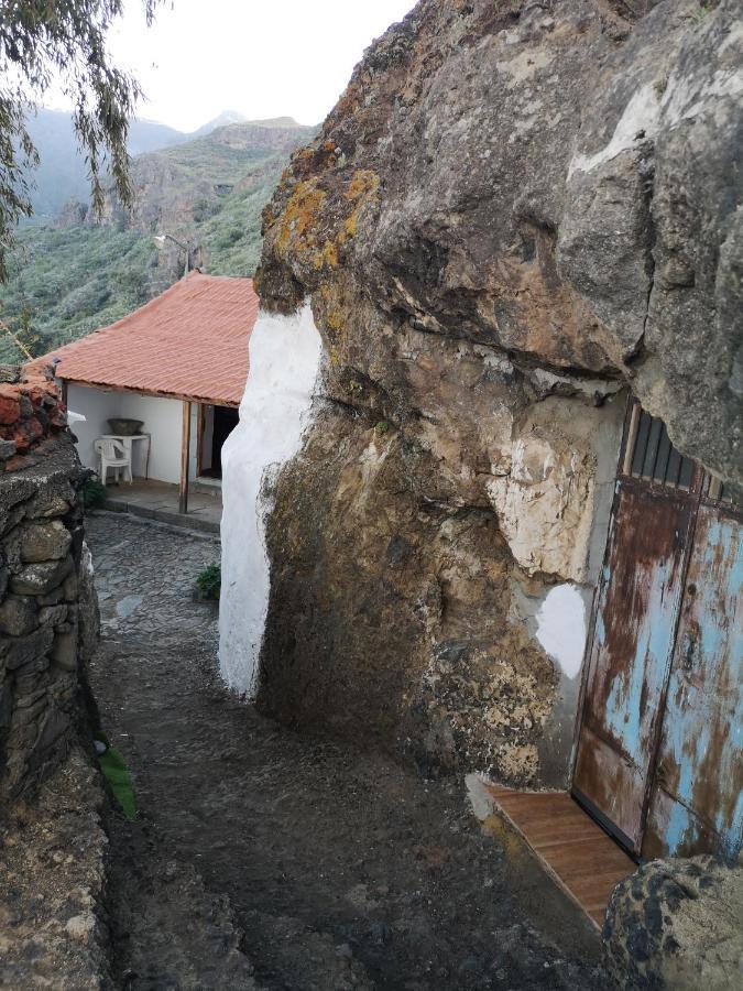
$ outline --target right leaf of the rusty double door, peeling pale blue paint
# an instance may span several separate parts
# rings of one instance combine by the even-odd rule
[[[699,508],[644,856],[741,849],[742,531],[732,515]]]

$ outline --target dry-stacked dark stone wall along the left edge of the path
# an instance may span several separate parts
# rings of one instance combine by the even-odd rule
[[[96,640],[80,467],[44,372],[0,377],[0,804],[65,756]]]

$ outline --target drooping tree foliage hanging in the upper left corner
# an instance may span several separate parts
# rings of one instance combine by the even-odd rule
[[[161,0],[143,0],[147,23]],[[131,204],[128,121],[141,96],[106,47],[123,0],[0,0],[0,281],[18,221],[31,214],[30,172],[39,156],[26,121],[54,85],[73,104],[95,210],[110,172],[119,198]]]

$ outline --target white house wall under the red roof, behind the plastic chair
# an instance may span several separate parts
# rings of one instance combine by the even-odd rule
[[[80,460],[86,467],[97,470],[94,440],[101,434],[110,434],[109,417],[121,416],[142,420],[142,429],[152,435],[150,478],[175,484],[181,481],[183,404],[179,400],[69,385],[67,405],[86,417],[85,423],[76,423],[73,428]],[[134,445],[134,475],[144,475],[143,448],[144,445]]]

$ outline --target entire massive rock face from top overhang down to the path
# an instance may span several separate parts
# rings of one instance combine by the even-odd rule
[[[740,9],[632,8],[422,0],[293,156],[258,281],[310,296],[326,399],[269,521],[269,711],[558,781],[547,605],[583,629],[625,390],[741,482]]]

